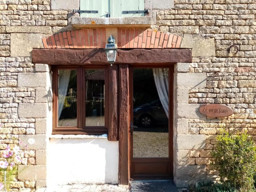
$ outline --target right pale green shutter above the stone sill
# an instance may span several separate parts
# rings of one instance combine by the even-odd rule
[[[110,17],[143,17],[144,13],[122,14],[122,11],[144,10],[144,0],[111,0],[113,3],[113,14]]]

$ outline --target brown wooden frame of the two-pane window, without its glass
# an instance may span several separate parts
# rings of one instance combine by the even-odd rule
[[[67,69],[77,70],[77,127],[58,126],[58,70]],[[86,78],[85,70],[87,69],[104,69],[105,71],[105,126],[85,126],[85,100],[86,100]],[[90,66],[53,66],[52,67],[52,103],[53,119],[52,134],[107,134],[108,133],[108,106],[109,106],[109,67],[107,65],[90,65]]]

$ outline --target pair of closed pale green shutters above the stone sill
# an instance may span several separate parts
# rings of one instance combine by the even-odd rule
[[[144,0],[80,0],[80,10],[97,10],[98,13],[81,13],[81,17],[141,17],[141,14],[122,14],[122,11],[144,10]]]

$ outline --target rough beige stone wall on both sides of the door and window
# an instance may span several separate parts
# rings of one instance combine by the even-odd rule
[[[255,1],[175,0],[174,8],[166,10],[156,10],[163,7],[155,0],[145,2],[152,9],[152,28],[180,35],[181,48],[192,48],[193,62],[175,66],[175,182],[183,187],[198,180],[219,180],[210,166],[210,151],[221,127],[232,134],[248,131],[256,140]],[[24,148],[20,170],[26,171],[12,183],[14,191],[46,185],[51,73],[47,65],[31,62],[31,50],[43,48],[42,37],[72,29],[72,11],[64,5],[58,8],[58,3],[0,0],[0,150],[18,144],[13,137],[23,148],[28,138],[36,140],[33,147]],[[72,9],[79,7],[77,3],[72,1]],[[237,47],[229,53],[230,45]],[[198,112],[201,103],[226,104],[234,114],[206,118]]]

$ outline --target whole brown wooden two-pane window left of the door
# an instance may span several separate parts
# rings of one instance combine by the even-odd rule
[[[107,133],[108,67],[54,67],[53,134]]]

